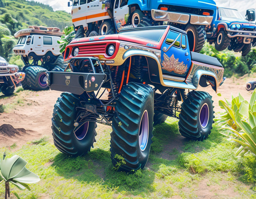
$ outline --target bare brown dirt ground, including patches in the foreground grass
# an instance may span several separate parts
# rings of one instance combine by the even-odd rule
[[[215,112],[221,112],[222,109],[218,106],[218,101],[224,98],[230,100],[231,94],[237,96],[240,92],[246,100],[249,100],[251,92],[247,92],[245,84],[254,79],[256,78],[253,76],[244,76],[239,79],[227,78],[218,89],[217,93],[221,93],[221,96],[218,96],[210,87],[200,88],[199,90],[209,92],[214,101]],[[54,104],[60,94],[61,92],[48,90],[39,92],[22,91],[11,97],[0,96],[0,105],[11,105],[7,113],[0,113],[0,148],[12,148],[11,146],[15,144],[13,150],[18,150],[26,143],[45,136],[49,137],[50,142],[53,143],[51,139],[51,118]],[[111,129],[111,127],[98,124],[96,131],[98,134],[102,134],[103,129]],[[184,139],[182,136],[178,136],[172,143],[177,142],[182,145]],[[170,146],[169,149],[172,150],[174,146]],[[162,153],[160,155],[167,160],[173,159],[169,154]],[[223,180],[225,181],[225,179]],[[203,187],[200,186],[200,189],[193,187],[198,198],[215,198],[216,196],[218,196],[216,198],[226,198],[228,195],[229,198],[232,198],[231,195],[235,198],[236,193],[234,193],[233,188],[223,191],[221,187],[223,184],[230,187],[231,184],[228,184],[228,182],[224,183],[223,181],[221,186],[209,186],[208,181],[209,179],[206,177],[203,179]],[[173,198],[180,197],[174,196]]]

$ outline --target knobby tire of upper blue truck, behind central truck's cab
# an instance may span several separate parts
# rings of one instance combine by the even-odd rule
[[[188,45],[190,51],[200,52],[204,47],[206,33],[202,25],[187,25],[185,31],[188,35]]]

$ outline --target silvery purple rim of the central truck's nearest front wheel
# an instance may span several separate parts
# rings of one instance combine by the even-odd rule
[[[140,150],[144,151],[148,145],[148,111],[145,110],[140,121],[139,132]]]

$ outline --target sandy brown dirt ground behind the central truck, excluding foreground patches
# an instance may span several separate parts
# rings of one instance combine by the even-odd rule
[[[230,100],[231,94],[237,96],[240,93],[246,100],[250,100],[251,92],[245,89],[245,84],[248,81],[256,79],[254,76],[244,76],[241,78],[227,78],[222,86],[219,87],[217,93],[210,87],[199,88],[199,90],[207,91],[212,95],[214,101],[215,112],[222,112],[218,106],[218,101],[224,98]],[[23,100],[22,104],[16,105],[8,113],[0,113],[0,126],[10,124],[15,129],[25,129],[23,133],[15,134],[14,136],[6,136],[0,131],[0,147],[10,147],[14,143],[17,148],[21,147],[28,141],[39,139],[44,136],[51,137],[51,118],[54,104],[61,92],[58,91],[22,91],[17,96],[4,97],[0,96],[0,105],[14,104],[18,100]],[[98,131],[103,125],[98,124]],[[104,126],[104,128],[111,128]]]

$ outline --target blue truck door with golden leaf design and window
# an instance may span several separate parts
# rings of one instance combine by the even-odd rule
[[[191,55],[187,35],[170,30],[161,46],[163,75],[187,76],[191,67]]]

